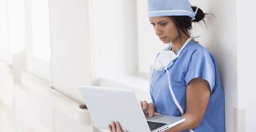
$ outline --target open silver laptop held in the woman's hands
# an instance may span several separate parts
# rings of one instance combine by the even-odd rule
[[[143,113],[136,93],[130,89],[79,85],[95,127],[109,129],[119,122],[122,131],[162,132],[183,121],[184,117]]]

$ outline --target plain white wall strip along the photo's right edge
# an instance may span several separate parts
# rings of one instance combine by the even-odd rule
[[[245,109],[246,132],[255,131],[256,116],[256,45],[255,45],[255,4],[256,1],[237,2],[237,68],[238,68],[238,109]]]

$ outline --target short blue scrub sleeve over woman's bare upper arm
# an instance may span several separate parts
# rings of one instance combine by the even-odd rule
[[[191,55],[189,69],[185,75],[186,84],[197,77],[207,80],[211,91],[213,90],[215,86],[214,57],[211,52],[202,47],[195,49]]]

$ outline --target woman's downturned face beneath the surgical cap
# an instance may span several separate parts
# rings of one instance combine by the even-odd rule
[[[149,17],[149,21],[153,25],[155,34],[164,44],[180,41],[178,29],[169,16]]]

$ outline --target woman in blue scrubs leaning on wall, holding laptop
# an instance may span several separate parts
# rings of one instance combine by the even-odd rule
[[[207,14],[191,7],[189,0],[148,0],[148,17],[155,34],[165,44],[152,64],[152,103],[141,101],[149,116],[163,114],[185,117],[166,132],[224,132],[224,92],[211,52],[190,37],[192,22]],[[109,125],[121,132],[119,123]]]

